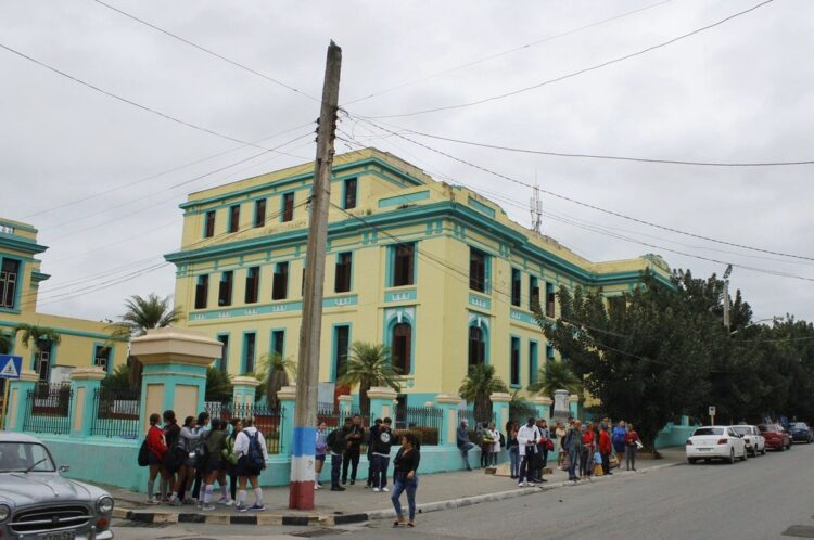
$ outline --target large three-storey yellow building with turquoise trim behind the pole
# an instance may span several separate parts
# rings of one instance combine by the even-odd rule
[[[263,355],[296,360],[314,165],[192,193],[177,267],[181,323],[224,343],[216,361],[255,372]],[[532,305],[555,318],[561,285],[635,286],[659,257],[592,262],[511,221],[493,202],[437,182],[392,154],[336,156],[326,254],[322,388],[335,383],[354,342],[384,344],[409,406],[457,394],[468,367],[494,364],[525,388],[557,357]],[[325,400],[325,395],[320,395]]]

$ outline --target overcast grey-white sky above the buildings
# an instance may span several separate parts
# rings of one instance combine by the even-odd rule
[[[308,95],[320,95],[330,39],[343,50],[340,102],[352,115],[383,117],[531,87],[662,43],[760,0],[110,3],[291,89],[92,0],[4,0],[0,43],[228,138],[275,136],[257,143],[266,149],[297,140],[280,149],[285,154],[246,160],[262,150],[139,110],[0,49],[0,216],[33,223],[50,247],[41,259],[52,278],[40,287],[39,311],[96,320],[123,313],[129,295],[173,293],[174,267],[158,265],[179,246],[178,204],[188,193],[314,159],[306,134],[319,106]],[[551,157],[400,131],[562,153],[811,160],[813,56],[814,2],[777,0],[534,90],[372,121],[614,213],[814,258],[812,165]],[[340,128],[343,137],[392,152],[436,179],[480,191],[530,224],[530,189],[358,119],[343,118]],[[351,150],[338,143],[338,152]],[[814,319],[814,260],[681,235],[548,194],[543,206],[543,232],[590,260],[658,253],[698,277],[721,274],[732,262],[733,287],[742,290],[755,319],[786,312]]]

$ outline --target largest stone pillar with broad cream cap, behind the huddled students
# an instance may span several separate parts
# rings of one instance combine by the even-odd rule
[[[196,416],[204,407],[206,368],[220,358],[222,344],[190,330],[153,329],[131,342],[130,355],[143,365],[141,426],[150,414],[171,409],[178,422]]]

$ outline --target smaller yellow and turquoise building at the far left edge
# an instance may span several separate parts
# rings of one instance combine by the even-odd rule
[[[127,358],[127,343],[111,342],[106,323],[37,312],[39,285],[50,278],[35,257],[48,247],[37,243],[37,230],[0,218],[0,334],[8,353],[22,356],[23,369],[40,381],[67,381],[74,368],[98,365],[112,372]],[[20,324],[53,329],[59,343],[24,344],[15,335]]]

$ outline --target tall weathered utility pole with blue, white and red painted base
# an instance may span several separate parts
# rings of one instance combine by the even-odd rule
[[[311,190],[308,248],[305,255],[303,322],[300,329],[300,357],[296,371],[294,440],[291,455],[289,507],[314,510],[314,460],[317,440],[317,387],[319,345],[322,330],[322,285],[328,240],[328,207],[331,202],[333,139],[339,111],[339,81],[342,49],[333,41],[328,47],[322,106],[317,128],[317,162]]]

